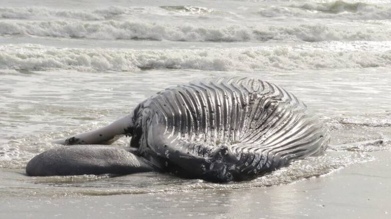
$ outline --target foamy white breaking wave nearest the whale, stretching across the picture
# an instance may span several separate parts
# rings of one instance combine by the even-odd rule
[[[350,48],[351,47],[351,48]],[[301,70],[391,66],[391,50],[370,42],[314,46],[224,49],[68,49],[34,44],[0,45],[0,69],[134,71],[197,69],[214,71]],[[388,48],[388,49],[387,49]]]

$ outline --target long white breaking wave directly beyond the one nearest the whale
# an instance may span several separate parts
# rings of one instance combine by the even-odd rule
[[[0,21],[0,36],[24,35],[102,40],[234,41],[387,41],[390,28],[350,28],[321,24],[292,26],[197,26],[129,21]]]

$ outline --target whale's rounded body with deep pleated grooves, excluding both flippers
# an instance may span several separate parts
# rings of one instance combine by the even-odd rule
[[[290,92],[252,78],[168,88],[134,111],[131,146],[157,166],[214,181],[250,179],[317,155],[327,130]]]

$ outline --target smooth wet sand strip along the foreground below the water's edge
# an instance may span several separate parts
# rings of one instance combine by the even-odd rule
[[[391,151],[291,184],[238,190],[5,198],[0,218],[389,218]],[[61,190],[61,187],[59,187]]]

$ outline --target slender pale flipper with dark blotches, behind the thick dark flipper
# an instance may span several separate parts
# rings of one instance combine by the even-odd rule
[[[77,134],[75,136],[54,140],[53,143],[62,145],[74,145],[74,144],[111,144],[121,138],[123,135],[129,134],[128,132],[132,128],[132,116],[127,115],[122,117],[108,126],[100,129]]]

